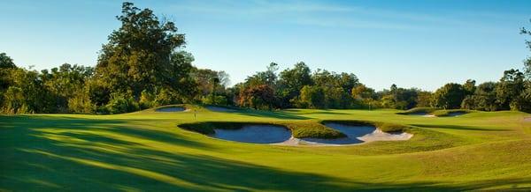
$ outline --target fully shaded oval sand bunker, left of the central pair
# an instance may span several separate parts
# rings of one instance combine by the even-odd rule
[[[212,137],[255,144],[281,143],[291,137],[291,131],[281,126],[246,125],[242,129],[214,129]]]

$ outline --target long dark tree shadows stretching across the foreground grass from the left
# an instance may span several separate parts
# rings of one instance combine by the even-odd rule
[[[0,120],[1,126],[11,128],[0,129],[0,154],[3,156],[0,159],[0,189],[14,191],[465,190],[501,184],[518,187],[531,182],[530,178],[521,178],[447,186],[438,182],[352,181],[232,159],[153,149],[135,142],[135,139],[212,150],[202,144],[180,141],[183,139],[178,136],[165,136],[168,133],[164,131],[126,128],[121,121],[52,117],[0,117]],[[105,130],[116,135],[67,129]],[[124,137],[133,140],[124,140]]]

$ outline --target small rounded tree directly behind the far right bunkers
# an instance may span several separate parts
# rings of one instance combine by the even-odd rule
[[[459,108],[464,99],[463,85],[455,83],[446,84],[434,93],[435,107]]]

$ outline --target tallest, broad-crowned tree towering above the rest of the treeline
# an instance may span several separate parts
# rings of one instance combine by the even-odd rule
[[[189,58],[176,52],[185,43],[184,35],[176,33],[173,22],[161,22],[150,9],[128,2],[117,18],[121,26],[109,35],[96,65],[96,78],[104,87],[116,95],[131,92],[134,98],[143,90],[167,87],[179,92],[188,87],[180,84],[188,74]]]

